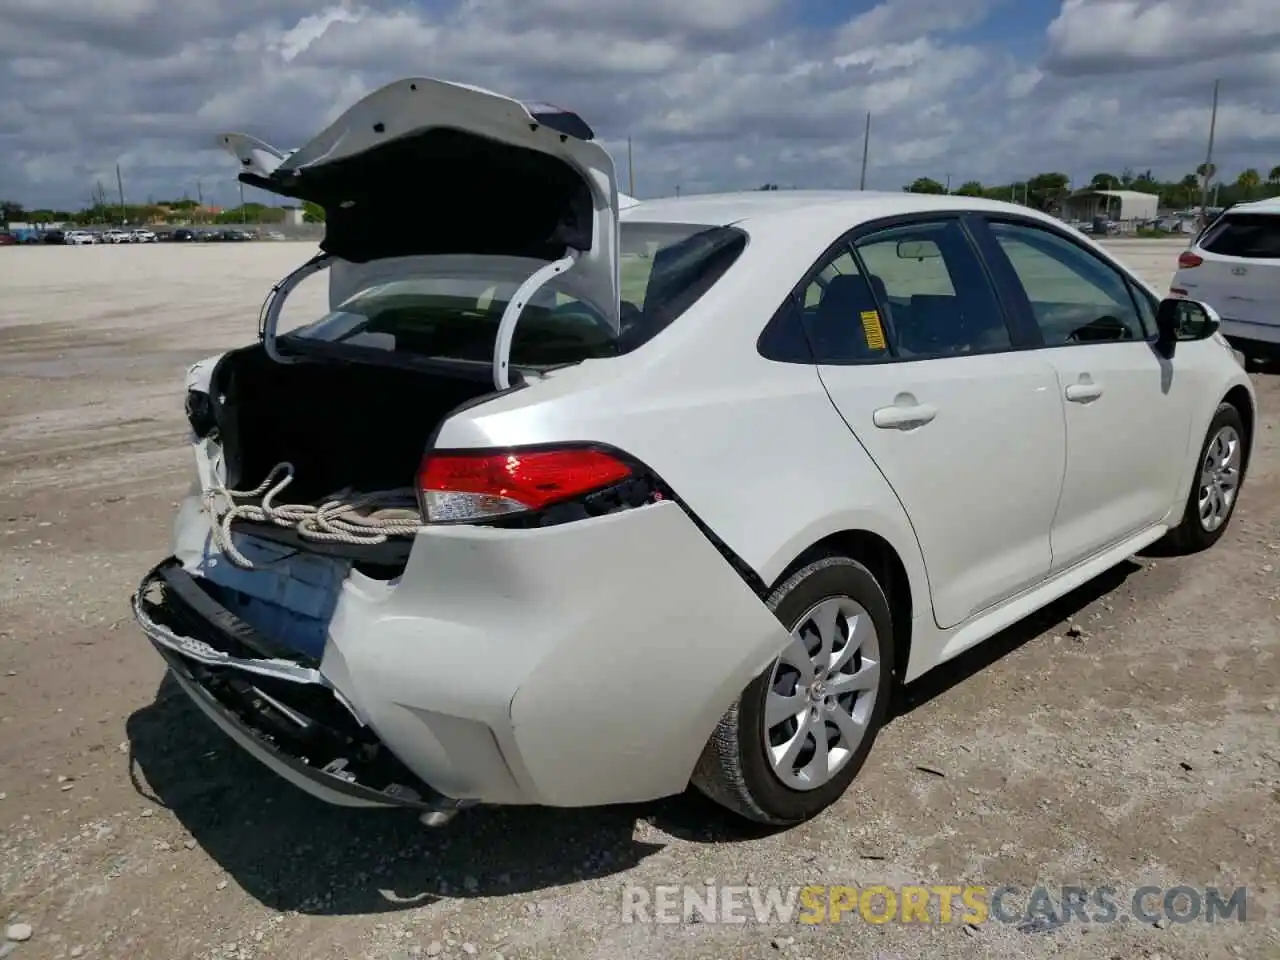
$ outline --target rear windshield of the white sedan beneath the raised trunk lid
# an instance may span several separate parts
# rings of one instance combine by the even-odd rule
[[[539,291],[516,324],[515,366],[541,367],[635,349],[673,323],[737,260],[731,227],[621,224],[622,329],[575,298],[572,270]],[[461,271],[460,271],[461,274]],[[406,276],[348,298],[284,338],[372,347],[431,360],[489,362],[498,323],[525,275]]]

